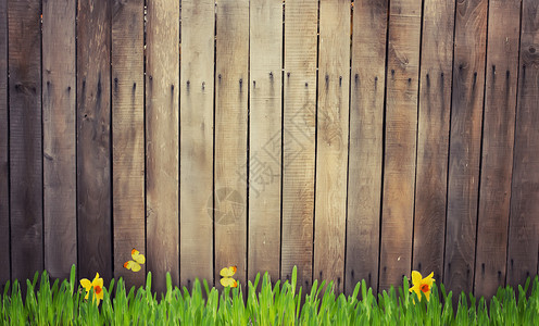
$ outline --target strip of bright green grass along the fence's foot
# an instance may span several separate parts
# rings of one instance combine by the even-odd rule
[[[296,268],[291,281],[256,276],[248,283],[247,296],[241,288],[217,291],[204,280],[196,280],[192,290],[172,286],[166,277],[167,291],[156,298],[151,291],[151,273],[145,287],[126,290],[122,278],[104,288],[98,306],[84,300],[84,291],[75,279],[73,266],[70,279],[52,286],[47,272],[26,281],[23,299],[15,280],[4,288],[0,302],[2,325],[539,325],[539,280],[536,276],[517,292],[500,288],[490,300],[462,293],[456,310],[452,293],[443,285],[433,287],[430,301],[418,302],[409,292],[409,281],[397,290],[376,296],[365,281],[355,286],[350,297],[336,296],[333,284],[314,281],[309,293],[296,284]],[[39,286],[38,286],[39,279]],[[531,286],[530,294],[528,287]],[[259,289],[259,290],[255,290]],[[111,294],[113,293],[113,294]],[[90,293],[91,298],[92,293]],[[302,301],[301,298],[304,297]],[[243,300],[243,298],[247,298]],[[415,300],[414,300],[415,298]],[[414,301],[416,304],[414,304]]]

